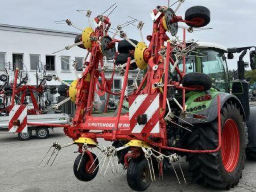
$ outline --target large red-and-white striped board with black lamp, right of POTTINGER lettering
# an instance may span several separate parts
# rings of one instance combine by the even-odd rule
[[[129,120],[132,133],[159,133],[159,94],[129,97]],[[147,115],[147,123],[139,125],[137,117]]]

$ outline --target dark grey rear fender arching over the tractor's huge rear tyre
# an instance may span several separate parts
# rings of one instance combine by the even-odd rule
[[[244,108],[235,95],[225,92],[220,92],[218,95],[220,95],[220,108],[222,108],[226,102],[232,101],[233,103],[236,103],[237,107],[240,108],[243,119],[245,119]],[[200,124],[214,121],[218,116],[218,95],[213,98],[208,108],[200,110],[198,112],[194,111],[193,114],[188,113],[188,115],[183,118],[183,120],[187,121],[190,124]],[[195,117],[195,115],[199,116]],[[179,122],[184,123],[182,121]]]

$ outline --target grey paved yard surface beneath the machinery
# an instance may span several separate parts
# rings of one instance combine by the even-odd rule
[[[0,132],[0,192],[102,192],[102,191],[132,191],[124,175],[113,175],[110,167],[103,177],[97,175],[90,182],[81,182],[73,174],[73,163],[78,153],[77,147],[63,148],[54,164],[45,166],[46,161],[40,166],[41,161],[53,141],[60,144],[70,143],[71,139],[64,135],[62,128],[56,128],[55,133],[50,131],[48,139],[39,140],[35,136],[28,141],[20,141],[17,135]],[[110,143],[99,140],[100,145],[108,146]],[[98,151],[92,150],[95,154]],[[100,157],[102,158],[102,156]],[[47,159],[46,159],[47,160]],[[178,183],[175,174],[164,169],[164,180],[151,183],[148,192],[153,191],[220,191],[199,186],[191,182],[188,172],[188,163],[181,160],[182,169],[186,175],[187,184],[182,181],[182,175],[176,165],[176,171],[182,181]],[[157,171],[156,171],[157,172]],[[243,178],[239,184],[231,189],[236,192],[256,192],[256,162],[246,161]],[[158,178],[158,176],[157,176]]]

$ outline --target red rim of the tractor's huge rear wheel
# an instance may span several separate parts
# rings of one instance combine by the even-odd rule
[[[227,172],[236,169],[240,154],[240,136],[236,122],[228,119],[222,130],[221,157]]]

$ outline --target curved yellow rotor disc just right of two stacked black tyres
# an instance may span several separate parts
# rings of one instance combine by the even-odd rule
[[[134,50],[135,63],[139,69],[146,69],[148,63],[144,60],[144,51],[147,45],[144,42],[139,42]]]

